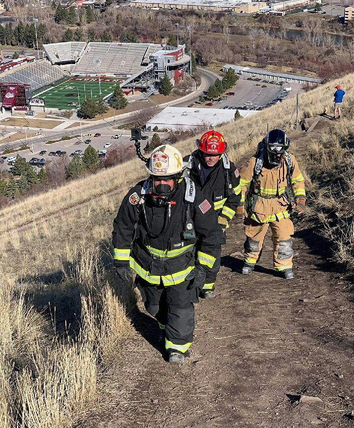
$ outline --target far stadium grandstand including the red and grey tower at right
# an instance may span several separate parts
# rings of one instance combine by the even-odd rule
[[[190,68],[185,45],[177,48],[154,43],[63,42],[43,45],[52,64],[70,70],[71,76],[115,77],[122,88],[153,92],[164,74],[171,83],[183,80]]]

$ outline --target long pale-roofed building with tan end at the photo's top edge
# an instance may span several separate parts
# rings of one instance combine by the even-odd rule
[[[266,3],[250,0],[133,0],[131,7],[146,9],[207,10],[213,12],[255,13]]]

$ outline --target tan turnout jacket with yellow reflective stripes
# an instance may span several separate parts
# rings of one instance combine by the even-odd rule
[[[290,217],[290,205],[291,201],[286,196],[287,187],[287,170],[288,166],[286,163],[286,155],[290,156],[292,167],[290,169],[291,185],[293,194],[296,199],[305,198],[305,180],[298,166],[298,162],[295,156],[285,152],[279,166],[273,168],[264,166],[262,167],[258,180],[260,181],[260,193],[255,199],[251,199],[250,204],[246,204],[245,211],[246,217],[257,221],[258,223],[267,223],[283,218]],[[254,166],[256,164],[257,157],[254,155],[251,159],[246,161],[241,169],[241,186],[242,186],[242,199],[241,202],[245,202],[245,194],[247,185],[250,184],[254,177]],[[249,190],[251,192],[251,189]],[[248,195],[248,196],[254,196]],[[246,196],[246,201],[248,199]]]

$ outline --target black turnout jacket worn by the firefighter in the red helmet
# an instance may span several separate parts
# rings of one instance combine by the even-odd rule
[[[233,162],[223,153],[220,160],[209,173],[207,180],[201,184],[201,158],[199,150],[183,158],[189,162],[189,177],[197,187],[213,202],[218,216],[231,220],[241,201],[239,171]]]

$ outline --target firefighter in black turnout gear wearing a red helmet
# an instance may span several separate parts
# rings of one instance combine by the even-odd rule
[[[239,171],[227,157],[226,146],[227,143],[220,132],[207,131],[197,140],[198,149],[183,158],[188,162],[189,177],[213,203],[219,227],[223,232],[221,244],[226,243],[225,231],[229,227],[228,222],[233,219],[241,201]],[[215,296],[214,284],[220,262],[219,257],[213,268],[207,272],[200,297]]]

